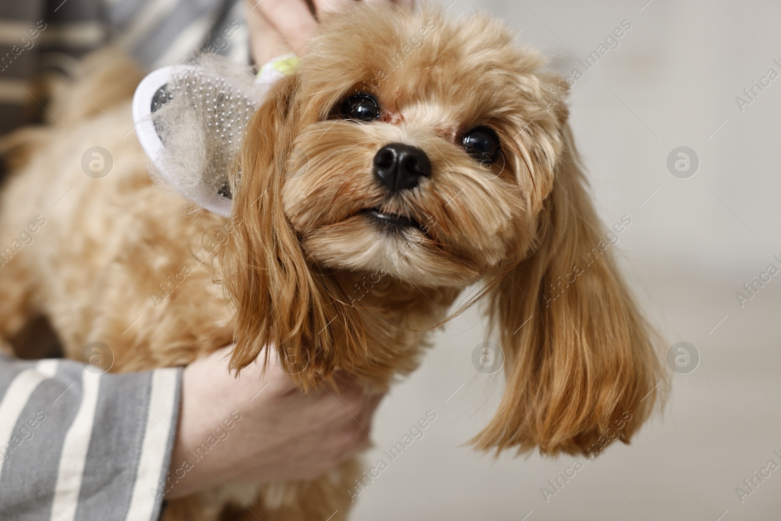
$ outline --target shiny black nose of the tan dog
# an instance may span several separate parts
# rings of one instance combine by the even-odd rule
[[[374,177],[391,194],[418,186],[421,177],[431,175],[426,152],[404,143],[388,143],[374,155]]]

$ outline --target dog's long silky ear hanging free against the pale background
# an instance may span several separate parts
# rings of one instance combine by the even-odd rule
[[[655,387],[664,376],[651,334],[616,270],[564,127],[537,247],[490,292],[506,389],[473,439],[483,450],[592,455],[608,439],[628,442],[665,387]]]

